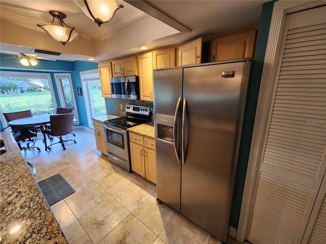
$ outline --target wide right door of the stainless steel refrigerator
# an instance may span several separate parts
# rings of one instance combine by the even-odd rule
[[[222,241],[227,240],[229,231],[250,65],[185,68],[183,74],[186,114],[181,214]]]

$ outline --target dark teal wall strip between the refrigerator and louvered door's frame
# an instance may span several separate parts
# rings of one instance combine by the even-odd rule
[[[255,113],[257,107],[259,86],[261,80],[261,74],[264,64],[266,45],[268,40],[269,25],[271,20],[271,14],[273,13],[274,2],[268,2],[263,4],[261,11],[261,18],[259,23],[257,44],[254,56],[254,62],[252,66],[252,75],[249,83],[248,100],[246,114],[244,116],[242,142],[239,151],[239,160],[237,166],[237,174],[232,202],[232,211],[230,225],[234,228],[238,228],[240,209],[244,188],[244,181],[246,180],[246,173],[248,167],[248,159],[250,153],[251,137],[254,128]]]

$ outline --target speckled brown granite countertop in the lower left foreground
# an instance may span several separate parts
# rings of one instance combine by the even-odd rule
[[[10,132],[0,138],[0,242],[68,244]]]

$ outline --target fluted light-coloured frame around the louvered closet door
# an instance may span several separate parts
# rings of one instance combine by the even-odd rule
[[[236,234],[237,241],[243,242],[248,230],[256,178],[263,156],[266,130],[268,129],[266,128],[266,121],[271,112],[271,106],[269,105],[270,101],[273,100],[271,96],[273,95],[273,87],[275,86],[275,71],[277,70],[280,55],[278,50],[282,42],[286,15],[324,4],[324,1],[278,1],[274,3],[259,88],[246,181],[244,183],[239,225]]]

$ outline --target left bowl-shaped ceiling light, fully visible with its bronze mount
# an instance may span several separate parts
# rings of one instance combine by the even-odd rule
[[[64,13],[51,10],[49,14],[53,16],[52,22],[43,25],[37,24],[37,26],[44,29],[53,40],[66,45],[78,35],[78,33],[74,32],[75,27],[70,27],[63,21],[63,19],[67,17]],[[58,19],[59,25],[52,25],[55,18]]]

